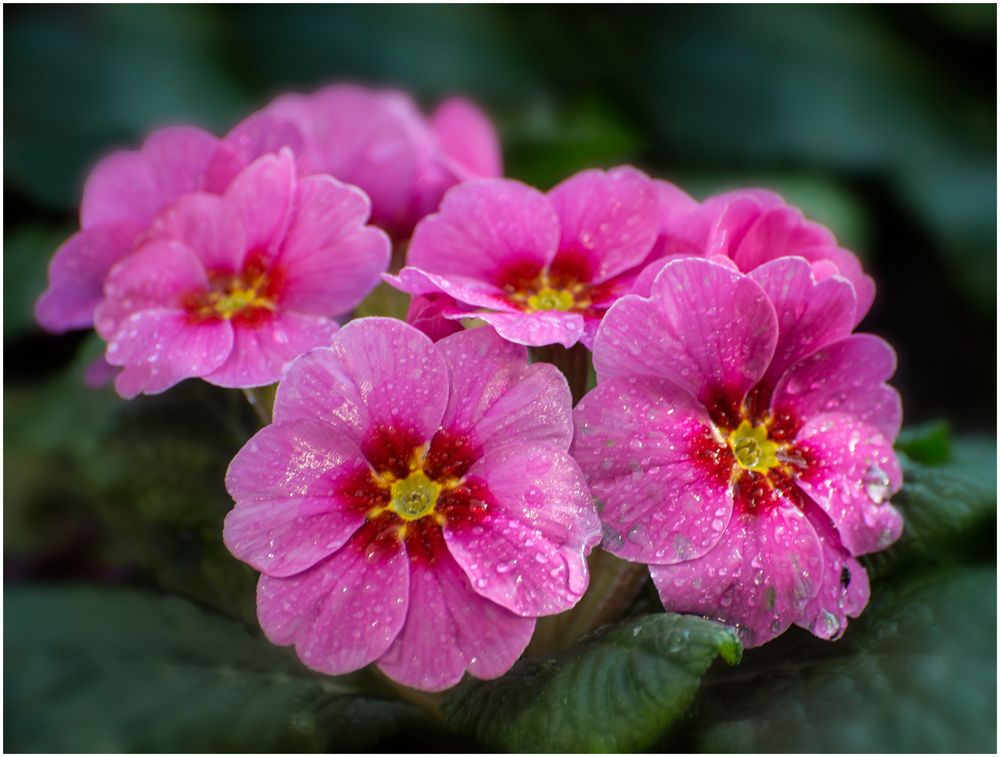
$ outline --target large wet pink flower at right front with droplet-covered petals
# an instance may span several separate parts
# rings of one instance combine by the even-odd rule
[[[853,287],[814,270],[670,262],[608,312],[576,410],[605,548],[648,563],[667,610],[751,646],[792,623],[842,633],[868,601],[856,557],[902,528],[895,354],[851,334]]]

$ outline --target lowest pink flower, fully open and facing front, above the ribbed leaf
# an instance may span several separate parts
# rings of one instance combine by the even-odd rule
[[[566,381],[526,358],[489,329],[434,344],[364,318],[289,367],[226,476],[271,641],[434,691],[501,675],[579,600],[597,514]]]

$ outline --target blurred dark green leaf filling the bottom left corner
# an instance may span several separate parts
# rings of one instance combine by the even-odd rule
[[[9,588],[4,609],[13,751],[356,751],[420,721],[179,598]]]

